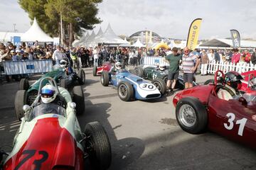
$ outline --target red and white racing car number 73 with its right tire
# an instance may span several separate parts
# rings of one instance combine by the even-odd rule
[[[53,78],[48,80],[67,102],[66,108],[57,103],[41,103],[38,93],[31,106],[23,106],[24,116],[14,137],[11,153],[0,152],[7,157],[0,169],[86,169],[85,159],[95,169],[107,169],[111,163],[111,146],[102,125],[87,123],[85,130],[80,129],[76,110],[78,105],[63,87],[58,87]]]

